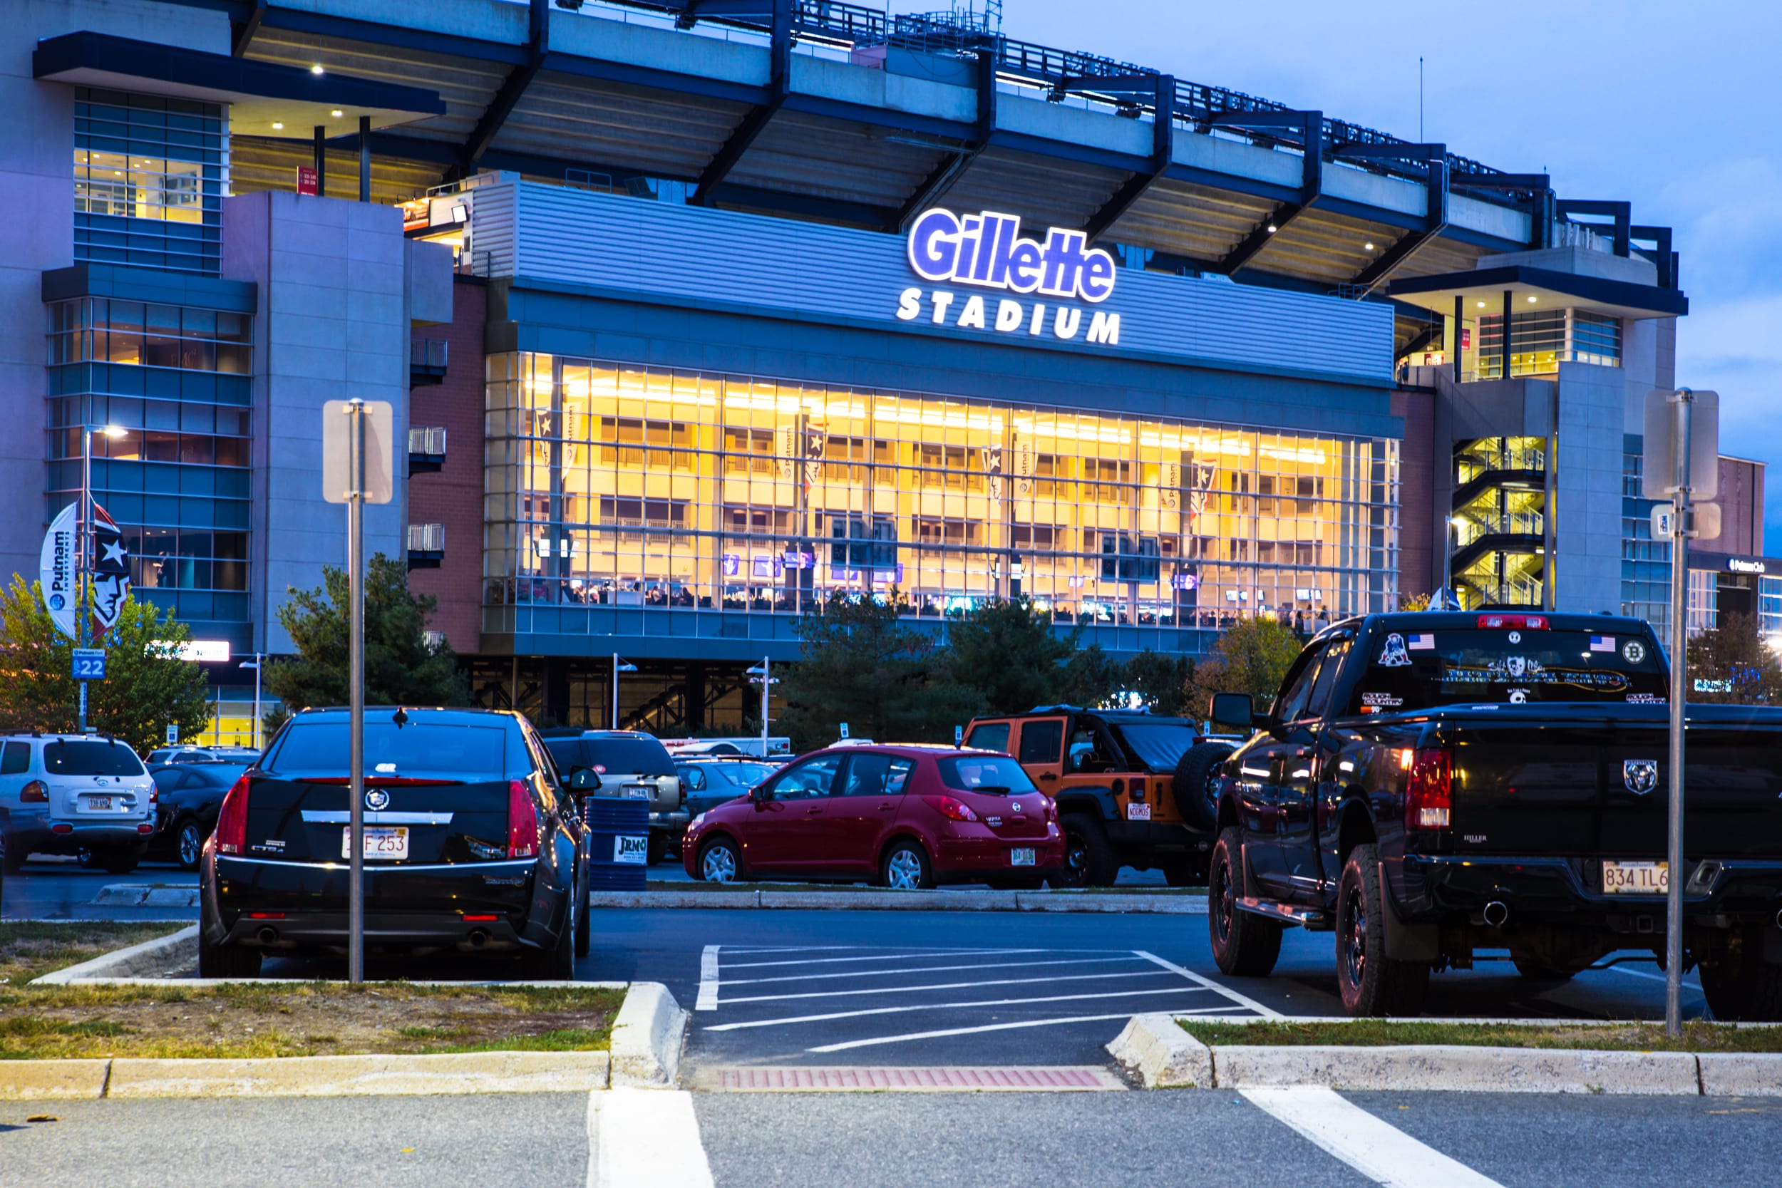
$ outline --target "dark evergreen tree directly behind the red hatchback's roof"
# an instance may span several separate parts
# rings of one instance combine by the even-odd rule
[[[841,723],[880,743],[950,743],[982,709],[953,680],[932,632],[900,622],[907,600],[830,598],[798,620],[802,659],[781,677],[781,728],[797,750],[834,743]]]

